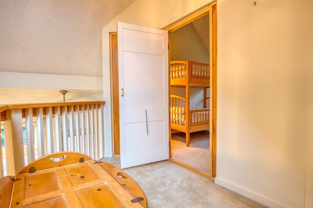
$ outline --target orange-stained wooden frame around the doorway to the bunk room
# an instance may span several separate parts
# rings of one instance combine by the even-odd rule
[[[209,173],[206,174],[203,171],[197,171],[196,168],[192,168],[188,165],[182,164],[178,161],[172,160],[173,162],[177,163],[178,165],[185,166],[188,169],[191,169],[199,174],[214,180],[216,177],[216,113],[217,113],[217,1],[214,1],[206,6],[203,6],[199,10],[193,12],[190,15],[185,16],[184,18],[176,21],[162,29],[168,30],[169,33],[173,32],[190,22],[196,21],[206,15],[209,15],[209,40],[210,40],[210,148],[209,148],[209,155],[210,161],[209,166],[210,170]],[[170,36],[169,36],[169,43],[170,43]],[[171,47],[169,47],[171,48]],[[170,51],[170,50],[169,50]],[[170,53],[170,52],[169,52]],[[170,56],[169,56],[170,59]],[[170,146],[171,147],[171,146]],[[171,151],[171,148],[170,148]],[[171,152],[170,152],[171,154]]]

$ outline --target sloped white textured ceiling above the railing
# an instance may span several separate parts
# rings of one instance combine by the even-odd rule
[[[101,77],[101,29],[134,1],[1,0],[0,71]]]

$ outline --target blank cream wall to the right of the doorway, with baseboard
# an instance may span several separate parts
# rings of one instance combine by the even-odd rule
[[[269,207],[304,207],[313,162],[308,2],[218,0],[215,181]]]

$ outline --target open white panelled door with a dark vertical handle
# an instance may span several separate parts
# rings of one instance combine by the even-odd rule
[[[117,22],[121,168],[169,159],[168,32]]]

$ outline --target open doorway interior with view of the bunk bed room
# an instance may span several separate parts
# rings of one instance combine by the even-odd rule
[[[205,15],[200,19],[192,21],[179,29],[171,32],[171,45],[170,45],[170,68],[173,73],[184,73],[183,70],[177,71],[173,67],[177,67],[175,62],[190,60],[198,62],[199,64],[193,64],[192,73],[188,73],[189,77],[193,80],[199,79],[199,82],[193,82],[194,85],[190,85],[190,80],[182,82],[179,85],[172,85],[170,88],[171,96],[181,96],[186,99],[186,106],[190,109],[189,112],[177,114],[170,110],[171,113],[171,158],[184,163],[193,168],[197,168],[204,171],[206,174],[209,173],[209,63],[210,63],[210,42],[209,42],[209,15]],[[201,63],[201,64],[200,64]],[[202,64],[203,63],[203,64]],[[186,65],[186,68],[191,65]],[[199,69],[198,75],[197,67]],[[207,66],[207,67],[206,67]],[[180,67],[180,65],[179,65]],[[184,67],[184,66],[182,66]],[[192,67],[192,66],[191,66]],[[205,67],[205,68],[204,68]],[[207,70],[206,70],[207,69]],[[188,68],[188,70],[191,70]],[[189,71],[190,72],[190,71]],[[187,73],[186,73],[187,74]],[[193,77],[193,75],[195,75]],[[207,76],[205,76],[207,75]],[[172,81],[179,79],[179,77],[170,74]],[[186,75],[184,75],[186,77]],[[186,79],[188,80],[189,77]],[[189,83],[188,83],[189,82]],[[171,82],[174,83],[174,82]],[[187,89],[189,87],[189,89]],[[176,100],[173,100],[176,102]],[[170,104],[172,106],[173,104]],[[176,104],[179,105],[179,104]],[[194,111],[191,109],[199,109]],[[189,115],[187,115],[189,114]],[[177,131],[179,127],[175,128],[176,121],[172,121],[173,117],[183,117],[185,122],[184,132]],[[192,116],[190,119],[186,117]],[[199,117],[199,118],[198,118]],[[189,124],[191,123],[191,124]],[[177,124],[179,125],[179,124]],[[187,130],[185,130],[187,129]],[[189,135],[186,135],[189,134]],[[188,146],[186,146],[186,140],[189,140]]]

